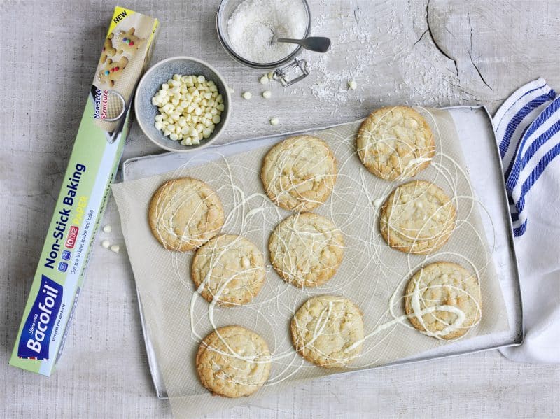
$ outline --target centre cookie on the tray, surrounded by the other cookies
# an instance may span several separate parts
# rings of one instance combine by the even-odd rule
[[[287,283],[316,287],[332,277],[344,256],[344,237],[328,218],[295,214],[276,226],[268,242],[270,261]]]

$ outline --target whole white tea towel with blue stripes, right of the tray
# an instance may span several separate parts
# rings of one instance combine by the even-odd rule
[[[539,78],[494,115],[521,278],[525,341],[501,352],[560,363],[560,96]]]

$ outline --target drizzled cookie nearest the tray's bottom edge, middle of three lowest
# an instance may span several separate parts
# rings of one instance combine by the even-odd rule
[[[344,297],[308,299],[293,316],[290,329],[295,350],[321,367],[344,367],[362,352],[363,314]]]

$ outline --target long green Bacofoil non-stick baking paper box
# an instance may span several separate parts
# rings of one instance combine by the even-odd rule
[[[13,348],[15,367],[50,376],[62,353],[157,31],[158,20],[115,8]]]

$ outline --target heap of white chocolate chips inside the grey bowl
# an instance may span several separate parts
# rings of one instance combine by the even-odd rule
[[[155,128],[182,145],[198,145],[209,138],[225,109],[216,83],[202,75],[174,74],[162,84],[152,104],[160,111],[155,115]]]

